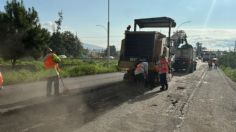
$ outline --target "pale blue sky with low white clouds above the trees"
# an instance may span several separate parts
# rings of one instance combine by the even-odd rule
[[[1,11],[5,4],[0,0]],[[51,31],[62,11],[63,31],[77,33],[83,43],[107,45],[108,0],[24,0],[24,5],[34,7],[40,23]],[[167,16],[177,23],[172,31],[185,30],[192,45],[201,42],[210,50],[233,49],[235,7],[236,0],[110,0],[110,45],[120,49],[124,30],[133,26],[134,19]],[[166,33],[163,28],[152,30]]]

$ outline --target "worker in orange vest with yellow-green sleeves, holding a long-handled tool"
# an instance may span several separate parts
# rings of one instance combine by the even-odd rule
[[[55,95],[59,95],[59,62],[61,59],[53,53],[52,49],[47,49],[48,54],[44,58],[44,66],[47,74],[47,96],[52,94],[52,83],[54,83]]]

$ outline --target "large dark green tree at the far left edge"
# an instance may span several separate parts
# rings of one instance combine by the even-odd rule
[[[39,24],[37,11],[32,7],[25,9],[23,1],[7,1],[5,12],[0,12],[0,50],[5,60],[16,60],[24,56],[40,57],[49,33]]]

